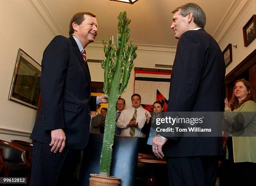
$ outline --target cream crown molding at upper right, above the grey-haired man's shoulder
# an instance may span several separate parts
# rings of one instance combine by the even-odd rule
[[[239,4],[234,7],[235,3],[239,2]],[[251,1],[252,3],[253,1]],[[212,36],[216,39],[216,41],[219,43],[221,39],[225,36],[225,34],[230,31],[231,28],[234,26],[234,21],[238,20],[238,18],[241,18],[241,10],[243,8],[248,7],[250,4],[249,0],[233,0],[230,7],[228,8],[228,11],[223,16],[223,19],[220,21],[220,24],[217,26],[215,32],[212,34]],[[230,14],[230,17],[228,17],[228,14]],[[226,23],[225,23],[226,21]],[[222,28],[222,29],[221,29]],[[219,31],[219,32],[218,32]]]

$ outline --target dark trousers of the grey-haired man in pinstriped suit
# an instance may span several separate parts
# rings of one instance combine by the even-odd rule
[[[215,186],[217,167],[215,156],[167,158],[170,186]]]

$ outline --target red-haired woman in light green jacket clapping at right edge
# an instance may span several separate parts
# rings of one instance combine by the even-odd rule
[[[230,103],[225,99],[224,116],[231,127],[227,137],[226,181],[230,185],[256,186],[256,103],[250,82],[245,79],[235,82]],[[236,120],[241,118],[243,125],[239,126]]]

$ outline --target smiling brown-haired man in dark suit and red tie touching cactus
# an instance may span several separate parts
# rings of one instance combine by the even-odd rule
[[[42,105],[32,131],[31,186],[68,185],[90,132],[90,110],[108,102],[90,97],[91,77],[84,48],[97,36],[95,14],[75,14],[69,38],[56,36],[42,59]]]

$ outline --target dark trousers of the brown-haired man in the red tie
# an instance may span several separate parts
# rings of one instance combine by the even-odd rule
[[[80,161],[80,150],[53,153],[49,144],[33,142],[30,186],[69,185]]]

